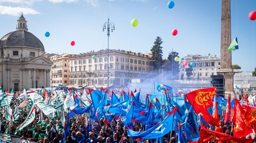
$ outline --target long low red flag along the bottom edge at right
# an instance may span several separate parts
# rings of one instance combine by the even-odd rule
[[[236,138],[228,134],[212,131],[210,129],[206,129],[202,126],[200,130],[200,142],[208,142],[212,139],[216,139],[218,142],[222,143],[251,143],[253,139],[244,139],[244,138]]]

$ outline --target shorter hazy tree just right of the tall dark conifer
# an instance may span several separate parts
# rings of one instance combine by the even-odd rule
[[[172,53],[169,53],[169,56],[167,58],[170,61],[169,70],[170,70],[170,73],[172,74],[171,79],[178,79],[178,77],[179,77],[179,72],[180,72],[179,71],[179,61],[176,62],[174,60],[175,57],[179,57],[178,55],[179,55],[179,53],[172,51]]]

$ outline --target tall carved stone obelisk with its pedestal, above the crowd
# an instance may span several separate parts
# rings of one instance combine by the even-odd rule
[[[221,68],[217,74],[224,76],[225,97],[228,94],[234,97],[234,72],[232,69],[231,52],[228,51],[231,43],[230,0],[222,0],[221,5]]]

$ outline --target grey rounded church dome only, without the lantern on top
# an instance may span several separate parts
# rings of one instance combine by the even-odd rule
[[[9,32],[0,39],[0,47],[28,47],[45,51],[42,42],[31,32],[17,30]]]

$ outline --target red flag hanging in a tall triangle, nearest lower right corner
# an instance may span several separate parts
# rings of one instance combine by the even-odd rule
[[[249,133],[252,133],[252,127],[246,120],[245,115],[243,114],[242,106],[237,99],[235,99],[234,112],[235,114],[232,119],[232,122],[235,124],[233,131],[234,137],[245,137]]]

